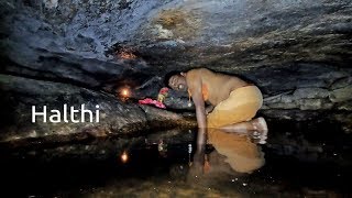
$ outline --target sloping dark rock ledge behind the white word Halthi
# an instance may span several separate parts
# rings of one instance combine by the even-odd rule
[[[122,100],[116,96],[62,82],[0,75],[0,89],[2,143],[43,144],[108,135],[133,138],[160,123],[165,124],[157,125],[158,129],[174,128],[175,124],[189,127],[195,123],[194,120],[187,121],[173,112],[141,107],[128,99]],[[64,109],[65,105],[67,110]],[[81,107],[82,105],[85,107]],[[44,116],[36,116],[33,122],[33,107],[36,113],[46,112],[45,122]],[[72,107],[77,112],[72,113]],[[91,117],[87,112],[82,114],[82,108],[91,111]],[[99,110],[99,113],[96,110]],[[51,118],[57,116],[57,112],[58,117]]]

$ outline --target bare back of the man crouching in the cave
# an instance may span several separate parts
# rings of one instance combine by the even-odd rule
[[[190,94],[201,86],[202,94],[207,95],[205,100],[212,106],[226,100],[234,89],[250,85],[238,77],[213,73],[206,68],[187,72],[186,81]]]

